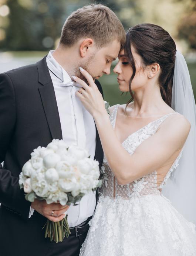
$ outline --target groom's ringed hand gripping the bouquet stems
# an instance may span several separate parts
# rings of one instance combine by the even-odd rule
[[[31,203],[31,208],[53,222],[62,220],[65,217],[65,211],[67,211],[69,207],[68,205],[62,206],[59,203],[47,204],[45,200],[40,201],[37,199]]]

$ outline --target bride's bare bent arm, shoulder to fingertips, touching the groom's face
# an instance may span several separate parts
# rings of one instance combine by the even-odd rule
[[[85,77],[89,86],[81,79],[75,79],[85,89],[82,89],[82,94],[76,94],[94,117],[105,157],[119,184],[130,183],[158,169],[183,147],[190,124],[182,115],[175,115],[168,117],[154,135],[143,141],[135,152],[129,155],[116,137],[101,93],[87,72]]]

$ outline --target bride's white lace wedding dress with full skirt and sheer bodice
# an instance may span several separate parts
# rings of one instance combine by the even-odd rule
[[[117,110],[118,105],[110,115],[113,128]],[[162,116],[129,135],[122,143],[125,150],[133,154],[172,114],[178,113]],[[159,193],[181,155],[182,151],[159,187],[156,171],[119,185],[104,158],[99,202],[80,256],[196,256],[195,225]]]

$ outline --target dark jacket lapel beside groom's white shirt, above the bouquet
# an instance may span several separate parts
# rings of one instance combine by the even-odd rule
[[[38,88],[41,101],[43,104],[45,116],[47,118],[48,127],[53,139],[62,139],[62,130],[60,117],[58,113],[57,100],[55,97],[53,82],[48,71],[46,56],[37,62],[38,82],[41,83]]]

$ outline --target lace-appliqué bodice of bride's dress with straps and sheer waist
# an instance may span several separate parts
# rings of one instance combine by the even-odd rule
[[[116,105],[114,107],[114,110],[112,111],[110,115],[110,121],[113,126],[115,127],[115,121],[116,121],[116,114],[118,111],[118,106]],[[151,137],[155,132],[157,131],[159,125],[170,115],[172,114],[178,114],[176,112],[167,114],[165,116],[162,116],[161,118],[150,122],[149,124],[145,125],[138,131],[134,132],[133,134],[129,135],[124,142],[122,142],[122,146],[125,148],[125,150],[131,155],[134,153],[136,148],[147,138]],[[111,171],[111,169],[108,166],[107,160],[104,157],[101,173],[103,175],[103,183],[102,187],[99,189],[100,196],[103,197],[110,197],[110,198],[117,198],[122,197],[123,199],[129,199],[133,196],[141,196],[141,195],[147,195],[147,194],[159,194],[159,188],[161,188],[169,178],[172,171],[178,166],[178,161],[182,155],[182,150],[172,166],[170,167],[168,173],[163,178],[161,184],[157,185],[157,172],[156,170],[152,173],[149,173],[138,180],[133,181],[132,183],[126,184],[124,186],[119,185],[115,177]]]

